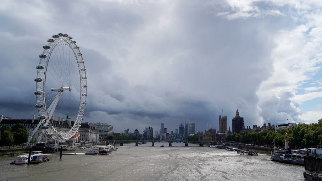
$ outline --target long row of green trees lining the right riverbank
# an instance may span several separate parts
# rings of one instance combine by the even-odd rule
[[[243,133],[228,134],[226,141],[272,147],[275,139],[275,146],[284,147],[285,133],[287,133],[293,148],[320,148],[322,145],[322,119],[319,119],[318,123],[301,124],[289,129],[280,129],[278,133],[262,130],[259,132],[244,131]]]

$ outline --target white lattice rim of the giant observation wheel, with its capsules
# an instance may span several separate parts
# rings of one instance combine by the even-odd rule
[[[72,37],[68,35],[66,36],[66,35],[67,34],[62,34],[62,33],[55,34],[52,36],[54,39],[48,39],[47,41],[49,42],[49,44],[43,46],[44,51],[43,51],[43,54],[39,55],[40,62],[39,62],[39,65],[36,67],[38,69],[37,78],[35,79],[37,94],[36,92],[34,93],[36,94],[36,99],[37,99],[36,107],[38,105],[37,108],[39,112],[39,119],[41,119],[44,126],[47,126],[49,128],[49,129],[46,129],[47,133],[55,135],[56,137],[59,137],[63,140],[70,139],[78,131],[85,112],[86,98],[87,98],[87,80],[86,80],[87,77],[86,77],[86,69],[82,58],[82,54],[79,50],[79,47],[76,45],[76,42],[71,40]],[[53,125],[50,122],[51,118],[49,118],[50,116],[48,114],[48,109],[46,105],[46,77],[47,77],[48,63],[51,60],[50,57],[52,55],[52,52],[56,49],[57,46],[59,46],[64,42],[66,43],[65,45],[69,46],[69,48],[74,53],[77,66],[78,66],[80,88],[81,88],[77,117],[75,119],[74,125],[71,126],[71,129],[67,133],[58,132],[53,127]],[[42,91],[42,94],[39,93],[40,90]],[[71,87],[69,87],[69,90],[71,90]]]

